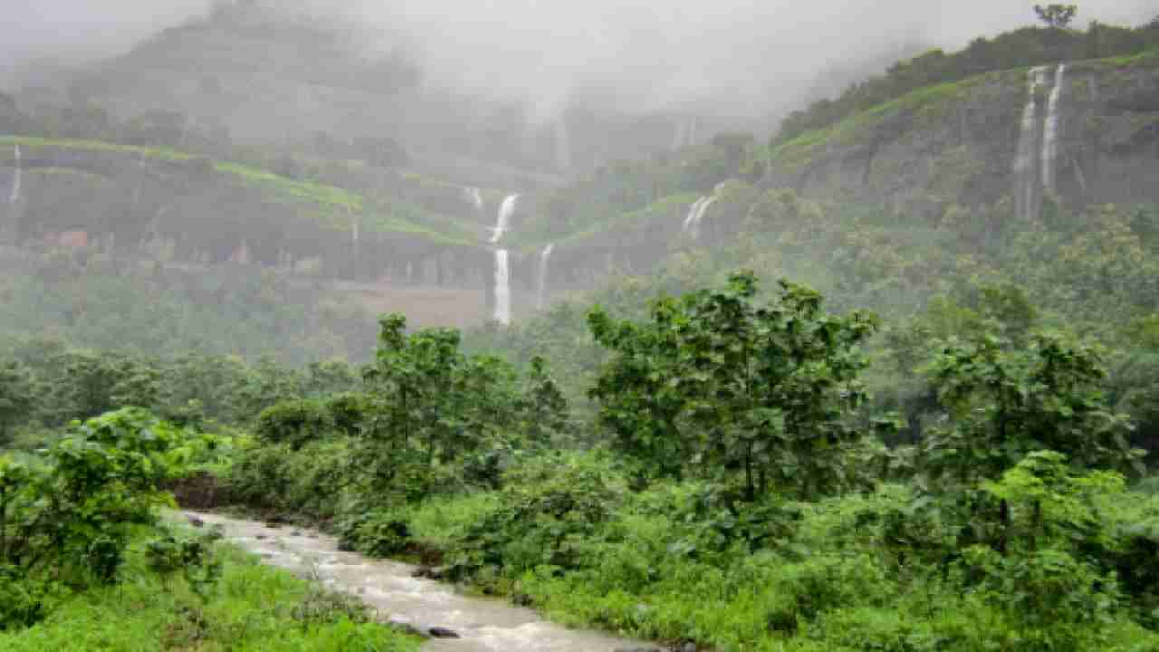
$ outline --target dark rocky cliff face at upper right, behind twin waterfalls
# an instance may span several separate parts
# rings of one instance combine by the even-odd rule
[[[1067,64],[1048,157],[1037,152],[1048,139],[1056,72],[1044,68],[1033,94],[1027,71],[1004,71],[925,88],[806,133],[773,152],[764,184],[897,211],[940,216],[953,204],[985,204],[1013,215],[1015,159],[1030,138],[1035,176],[1054,166],[1054,190],[1030,189],[1040,204],[1048,193],[1070,205],[1159,201],[1159,53]],[[1035,132],[1023,135],[1023,124]]]

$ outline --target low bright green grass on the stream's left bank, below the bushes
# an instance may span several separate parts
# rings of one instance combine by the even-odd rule
[[[169,589],[131,555],[125,580],[70,599],[30,629],[0,632],[5,652],[410,652],[417,638],[358,622],[341,609],[304,620],[294,608],[320,595],[290,573],[219,544],[224,574],[202,602],[183,582]]]

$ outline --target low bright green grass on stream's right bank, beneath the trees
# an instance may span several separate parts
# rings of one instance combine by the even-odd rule
[[[578,568],[537,566],[489,586],[506,586],[570,626],[691,639],[720,652],[1032,649],[1012,645],[1027,632],[987,596],[963,594],[936,574],[897,578],[889,553],[867,543],[874,526],[859,524],[859,515],[905,505],[904,487],[801,504],[802,520],[782,552],[737,546],[695,556],[673,552],[673,543],[695,530],[656,513],[655,505],[668,500],[654,502],[662,495],[636,497],[591,538],[569,537]],[[500,508],[500,500],[494,493],[438,498],[406,517],[424,545],[454,550],[462,528]],[[1101,650],[1159,645],[1159,636],[1125,615],[1105,624],[1101,633],[1076,636],[1098,640]]]

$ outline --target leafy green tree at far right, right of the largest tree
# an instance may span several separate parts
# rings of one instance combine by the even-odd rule
[[[1143,452],[1128,443],[1128,418],[1107,405],[1102,353],[1092,345],[1037,333],[1013,348],[990,329],[943,342],[928,374],[948,416],[921,444],[933,479],[994,478],[1036,450],[1084,466],[1138,466]]]

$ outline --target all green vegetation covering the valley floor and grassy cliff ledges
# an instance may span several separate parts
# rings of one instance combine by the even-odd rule
[[[715,203],[701,239],[657,245],[658,269],[509,328],[389,314],[374,331],[271,270],[174,281],[115,251],[14,256],[0,647],[80,629],[115,650],[413,647],[350,600],[166,526],[167,487],[568,623],[721,651],[1159,647],[1159,207],[1048,193],[1020,222],[1009,197],[960,205],[954,171],[921,212],[760,184],[767,155],[986,79],[971,75],[1127,65],[1157,42],[1154,24],[1050,15],[795,114],[771,151],[720,135],[535,195],[512,246],[647,239],[697,196]],[[0,145],[199,167],[335,231],[363,211],[370,231],[472,238],[440,212],[461,189],[384,172],[406,161],[388,140],[214,164],[176,150],[177,117],[82,109],[0,114],[37,135]],[[263,215],[238,223],[285,226]],[[304,618],[302,601],[326,608]]]

